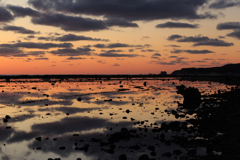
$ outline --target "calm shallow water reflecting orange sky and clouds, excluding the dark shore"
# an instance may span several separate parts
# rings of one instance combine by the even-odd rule
[[[118,159],[121,154],[137,159],[144,153],[150,156],[149,145],[155,146],[157,153],[152,158],[173,150],[184,154],[180,146],[156,140],[161,133],[151,131],[163,122],[194,117],[176,119],[166,112],[177,109],[176,101],[183,102],[176,85],[197,87],[202,95],[231,87],[177,79],[75,81],[0,82],[0,116],[11,117],[8,122],[0,122],[0,159],[97,160]],[[122,128],[135,137],[109,143]],[[179,133],[164,134],[170,139]],[[204,149],[198,149],[198,154],[204,153]]]

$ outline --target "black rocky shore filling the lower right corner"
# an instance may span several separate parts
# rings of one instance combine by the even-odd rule
[[[187,120],[187,123],[181,123],[178,127],[171,127],[172,131],[182,130],[191,134],[189,137],[175,136],[171,140],[188,150],[182,158],[240,159],[240,87],[207,96],[202,106],[194,111],[195,118]],[[188,112],[192,114],[193,111]],[[171,123],[168,126],[171,126]],[[196,148],[199,147],[206,150],[202,156],[197,154]]]

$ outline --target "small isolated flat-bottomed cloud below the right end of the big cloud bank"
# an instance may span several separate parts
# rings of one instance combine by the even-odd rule
[[[156,28],[199,28],[199,25],[179,22],[166,22],[156,25]]]

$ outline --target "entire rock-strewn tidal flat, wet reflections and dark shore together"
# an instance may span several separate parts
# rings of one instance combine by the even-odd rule
[[[0,159],[239,159],[239,101],[237,85],[171,77],[2,79]]]

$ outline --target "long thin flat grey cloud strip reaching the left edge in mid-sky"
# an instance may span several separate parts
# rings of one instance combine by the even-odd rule
[[[50,48],[71,48],[71,43],[34,43],[34,42],[19,42],[15,44],[0,44],[0,47],[6,48],[37,48],[37,49],[50,49]]]

